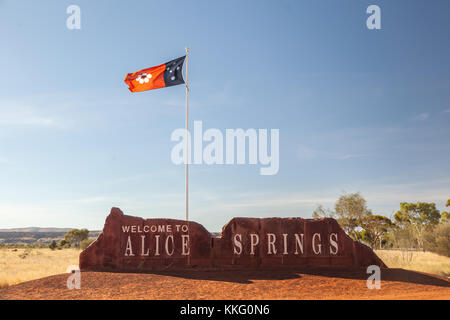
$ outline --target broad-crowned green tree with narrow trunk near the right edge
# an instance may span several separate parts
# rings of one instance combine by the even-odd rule
[[[394,215],[400,227],[412,227],[419,248],[423,249],[423,237],[426,230],[430,230],[439,223],[441,214],[435,203],[401,202],[400,210]]]

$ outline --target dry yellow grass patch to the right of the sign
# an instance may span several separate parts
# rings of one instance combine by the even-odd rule
[[[390,268],[437,274],[450,277],[450,258],[431,252],[376,250],[376,254]]]

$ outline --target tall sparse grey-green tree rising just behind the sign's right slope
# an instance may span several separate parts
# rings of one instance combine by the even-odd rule
[[[358,227],[362,219],[371,212],[366,207],[366,200],[357,193],[342,195],[334,206],[336,220],[344,231],[353,239],[357,239]]]

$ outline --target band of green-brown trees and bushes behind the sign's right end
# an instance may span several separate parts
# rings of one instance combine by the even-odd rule
[[[450,199],[446,206],[450,207]],[[334,210],[319,205],[313,217],[335,218],[350,237],[372,249],[403,249],[404,259],[411,249],[450,257],[450,213],[441,213],[432,202],[401,202],[388,218],[373,214],[360,193],[344,194]]]

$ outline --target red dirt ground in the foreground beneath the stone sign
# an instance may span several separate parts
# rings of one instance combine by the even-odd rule
[[[381,289],[366,287],[365,269],[288,268],[183,270],[153,273],[83,272],[81,289],[60,274],[0,289],[0,299],[445,299],[450,281],[403,269],[383,269]]]

